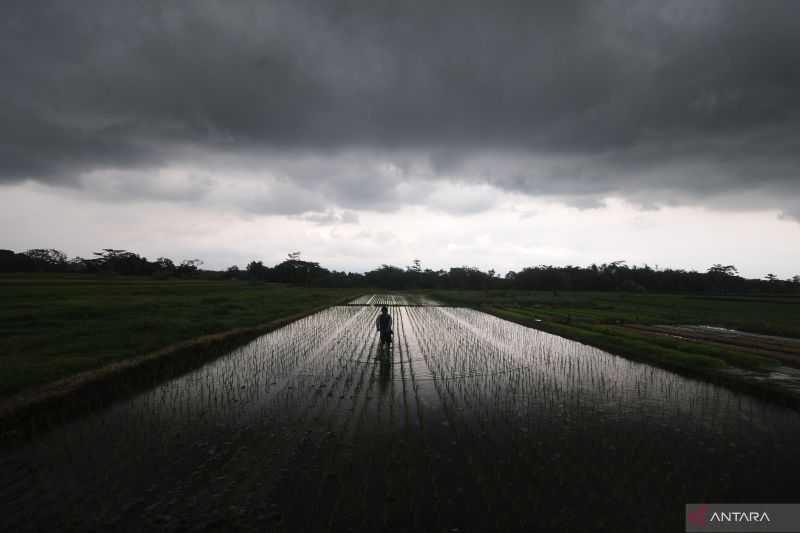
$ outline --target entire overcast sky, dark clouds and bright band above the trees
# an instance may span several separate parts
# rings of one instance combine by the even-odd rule
[[[800,273],[795,2],[0,4],[0,248]]]

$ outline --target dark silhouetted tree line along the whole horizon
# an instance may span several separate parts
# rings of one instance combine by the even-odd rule
[[[763,279],[739,275],[734,265],[715,264],[705,272],[683,269],[658,269],[648,265],[628,265],[614,261],[590,266],[539,265],[510,271],[499,276],[469,266],[447,270],[423,268],[415,259],[411,265],[381,265],[365,273],[329,270],[292,252],[274,265],[252,261],[245,268],[231,266],[224,271],[201,269],[202,261],[175,262],[166,257],[153,261],[137,253],[104,248],[91,258],[68,259],[53,249],[32,249],[22,253],[0,250],[0,272],[63,272],[98,275],[151,276],[157,279],[204,278],[292,283],[315,287],[376,287],[382,289],[533,289],[549,291],[621,290],[629,292],[800,292],[800,275],[779,279],[767,274]]]

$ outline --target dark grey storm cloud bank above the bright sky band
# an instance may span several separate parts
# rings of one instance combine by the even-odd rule
[[[755,191],[789,216],[800,211],[793,2],[98,0],[0,10],[2,181],[85,183],[100,169],[175,163],[190,147],[301,153],[306,163],[314,154],[316,165],[281,167],[285,177],[347,208],[402,200],[397,180],[423,161],[430,179],[576,204]],[[352,150],[399,171],[376,177],[342,163]],[[321,170],[331,162],[342,166]]]

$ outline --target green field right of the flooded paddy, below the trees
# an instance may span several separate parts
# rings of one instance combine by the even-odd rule
[[[791,296],[438,291],[432,297],[480,308],[620,355],[689,368],[758,369],[778,361],[746,348],[648,335],[626,324],[712,325],[800,337],[800,297]]]

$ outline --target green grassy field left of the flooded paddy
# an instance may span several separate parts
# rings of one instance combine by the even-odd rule
[[[241,281],[0,276],[0,395],[360,292]]]

